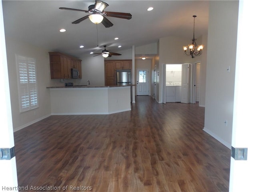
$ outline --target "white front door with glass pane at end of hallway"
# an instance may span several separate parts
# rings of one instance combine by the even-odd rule
[[[148,69],[137,69],[137,95],[149,95]]]

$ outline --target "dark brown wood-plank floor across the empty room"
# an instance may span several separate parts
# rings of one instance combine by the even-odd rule
[[[14,133],[18,186],[228,192],[230,150],[203,127],[198,104],[150,96],[136,96],[128,112],[50,116]]]

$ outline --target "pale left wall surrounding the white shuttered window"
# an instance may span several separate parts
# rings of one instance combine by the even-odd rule
[[[50,62],[47,50],[16,41],[13,38],[10,39],[8,36],[6,36],[6,52],[12,106],[12,123],[15,131],[50,115],[50,92],[46,89],[47,86],[51,85]],[[15,54],[36,59],[39,107],[22,113],[20,113],[19,108]]]

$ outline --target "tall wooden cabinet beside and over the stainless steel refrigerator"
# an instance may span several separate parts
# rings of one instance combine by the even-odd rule
[[[105,60],[105,86],[116,85],[116,70],[131,70],[132,60]]]

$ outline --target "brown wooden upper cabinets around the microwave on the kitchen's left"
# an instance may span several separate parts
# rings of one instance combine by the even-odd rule
[[[78,58],[60,53],[49,52],[50,55],[50,72],[51,79],[70,79],[71,69],[76,68],[79,71],[78,78],[82,78],[82,66],[81,61]]]

